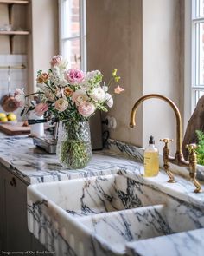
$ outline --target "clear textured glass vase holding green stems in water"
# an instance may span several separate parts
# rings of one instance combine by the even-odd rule
[[[89,122],[60,121],[56,154],[63,167],[86,167],[92,158]]]

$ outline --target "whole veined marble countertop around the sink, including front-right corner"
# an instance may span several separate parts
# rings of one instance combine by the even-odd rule
[[[125,157],[123,154],[116,154],[109,149],[96,151],[93,153],[92,161],[90,161],[88,166],[84,169],[67,170],[66,168],[61,167],[56,155],[47,154],[40,148],[35,148],[32,139],[28,136],[0,136],[0,163],[27,184],[48,181],[63,181],[79,177],[104,174],[115,174],[118,170],[123,170],[124,172],[129,172],[131,175],[134,175],[134,177],[137,175],[138,181],[142,181],[144,184],[146,183],[150,187],[154,187],[159,191],[163,191],[166,194],[173,195],[178,199],[188,201],[194,206],[204,209],[204,194],[194,194],[194,186],[187,179],[175,175],[177,183],[169,184],[166,182],[168,177],[163,173],[163,171],[161,171],[160,174],[154,178],[143,178],[141,175],[143,174],[143,164],[139,162],[143,159],[141,149],[134,151],[135,149],[133,150],[132,148],[130,149],[124,147],[124,144],[121,144],[122,146],[119,145],[119,151],[121,153],[123,153],[123,151],[128,152],[131,158]],[[133,151],[134,155],[132,155]],[[203,182],[202,187],[204,189]],[[141,240],[130,243],[128,252],[129,255],[162,256],[163,249],[155,250],[154,241],[160,245],[160,248],[162,248],[165,244],[163,240],[165,240],[167,245],[169,247],[173,246],[174,250],[176,251],[175,254],[167,255],[193,256],[194,253],[192,253],[193,251],[191,252],[190,250],[188,250],[188,254],[182,254],[181,252],[184,252],[182,245],[188,244],[188,246],[191,247],[196,246],[198,250],[201,249],[201,252],[203,252],[203,245],[201,244],[200,240],[201,237],[204,237],[204,229],[172,234],[168,236],[167,240],[165,240],[166,236],[150,239],[148,240],[148,245],[150,243],[150,247],[146,244],[147,240]],[[144,242],[145,246],[143,246]],[[181,247],[177,248],[178,245],[181,245]],[[152,252],[152,254],[150,254],[150,252]]]

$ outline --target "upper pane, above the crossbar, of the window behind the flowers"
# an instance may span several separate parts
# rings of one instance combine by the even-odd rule
[[[64,0],[62,11],[62,38],[80,36],[80,0]]]

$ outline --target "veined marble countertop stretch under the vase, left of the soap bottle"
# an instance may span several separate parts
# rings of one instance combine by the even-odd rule
[[[28,184],[114,174],[125,167],[138,174],[143,171],[143,164],[136,165],[135,161],[109,150],[94,152],[92,160],[83,169],[67,170],[61,167],[55,154],[36,148],[28,136],[5,136],[1,138],[0,146],[0,162]]]

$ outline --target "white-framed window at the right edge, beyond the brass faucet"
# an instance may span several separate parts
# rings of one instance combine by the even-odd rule
[[[204,0],[192,0],[192,110],[204,95]]]

